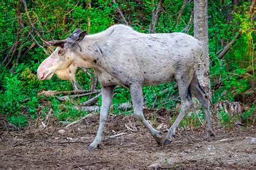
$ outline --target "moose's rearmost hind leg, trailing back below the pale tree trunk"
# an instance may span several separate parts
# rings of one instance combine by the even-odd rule
[[[206,119],[206,135],[205,139],[207,141],[211,141],[211,136],[215,136],[212,130],[212,121],[211,121],[211,113],[210,113],[210,104],[209,97],[205,90],[200,86],[198,82],[198,78],[196,73],[193,75],[193,80],[191,82],[191,92],[192,94],[199,100],[201,103]]]

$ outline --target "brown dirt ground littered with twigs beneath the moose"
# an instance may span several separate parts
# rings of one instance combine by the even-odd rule
[[[148,111],[155,127],[166,123],[168,114]],[[256,128],[216,128],[211,142],[203,140],[204,127],[178,129],[168,146],[158,146],[133,116],[109,115],[103,143],[86,151],[96,136],[99,116],[87,118],[66,129],[61,125],[45,129],[6,131],[1,128],[0,169],[6,168],[256,168]],[[65,132],[61,134],[60,129]],[[163,136],[166,132],[163,133]]]

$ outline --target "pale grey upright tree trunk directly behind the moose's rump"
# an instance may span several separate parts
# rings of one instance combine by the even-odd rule
[[[207,0],[194,0],[194,37],[201,42],[204,51],[199,62],[197,76],[199,83],[211,99],[207,20]]]

